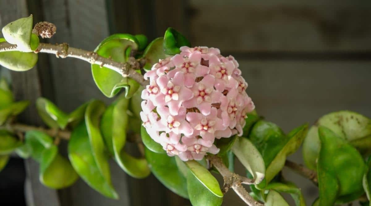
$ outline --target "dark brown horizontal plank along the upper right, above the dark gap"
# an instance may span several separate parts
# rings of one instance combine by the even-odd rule
[[[196,46],[223,51],[371,49],[370,1],[189,1]]]

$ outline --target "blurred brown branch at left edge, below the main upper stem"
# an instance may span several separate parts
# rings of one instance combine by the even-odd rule
[[[45,128],[42,128],[42,127],[34,127],[34,126],[29,126],[27,124],[19,124],[19,123],[6,124],[4,126],[0,126],[0,129],[6,129],[6,130],[12,131],[14,133],[19,133],[19,132],[23,133],[23,132],[28,132],[30,130],[37,130],[37,131],[40,131],[40,132],[44,132],[44,133],[48,134],[49,136],[59,137],[61,139],[65,139],[65,140],[70,139],[70,136],[71,136],[71,132],[66,131],[66,130],[45,129]]]

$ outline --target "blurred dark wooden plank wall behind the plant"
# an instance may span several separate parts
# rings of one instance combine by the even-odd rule
[[[34,23],[56,24],[56,35],[44,41],[86,50],[109,34],[145,34],[152,40],[167,27],[179,30],[193,46],[218,47],[240,63],[257,112],[285,132],[337,110],[371,117],[370,0],[0,1],[1,27],[29,14]],[[111,102],[95,86],[90,65],[79,60],[41,54],[36,69],[0,71],[12,79],[17,100],[44,96],[66,112],[92,98]],[[42,124],[34,105],[21,120]],[[289,159],[302,163],[301,151]],[[37,163],[13,157],[0,173],[0,205],[190,205],[153,176],[133,179],[114,162],[111,172],[120,200],[106,199],[81,179],[67,189],[47,189],[39,183]],[[237,172],[244,174],[242,167]],[[284,176],[302,188],[311,205],[316,187],[287,169]],[[223,204],[244,205],[232,191]]]

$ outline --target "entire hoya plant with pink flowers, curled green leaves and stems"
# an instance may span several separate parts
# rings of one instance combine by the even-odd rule
[[[300,187],[285,179],[286,166],[318,186],[313,205],[371,205],[368,117],[334,112],[285,134],[257,114],[233,56],[191,46],[173,28],[150,43],[142,34],[114,34],[85,51],[41,43],[39,37],[51,38],[56,27],[32,22],[31,15],[3,27],[2,66],[32,69],[40,53],[78,58],[91,64],[96,86],[115,100],[110,105],[90,100],[66,113],[39,98],[37,111],[47,127],[36,127],[17,122],[29,102],[14,102],[1,79],[0,169],[15,153],[40,164],[40,182],[47,187],[61,189],[81,178],[101,195],[118,199],[108,164],[114,159],[132,177],[152,173],[194,206],[219,206],[229,190],[250,206],[288,205],[283,193],[305,206]],[[68,157],[60,155],[60,141],[68,141]],[[136,143],[141,155],[128,153],[127,142]],[[301,146],[306,167],[286,159]],[[246,173],[234,172],[236,161]]]

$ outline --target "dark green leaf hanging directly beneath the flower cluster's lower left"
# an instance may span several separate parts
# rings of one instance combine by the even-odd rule
[[[181,197],[188,198],[187,180],[178,169],[175,157],[169,157],[167,154],[155,153],[145,147],[145,158],[148,161],[153,175],[165,185],[165,187]]]

